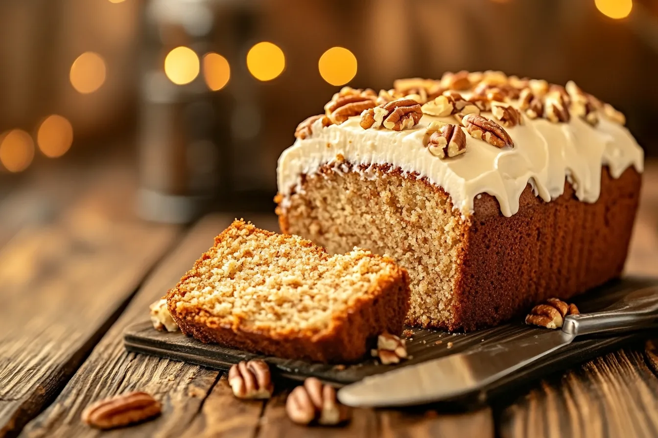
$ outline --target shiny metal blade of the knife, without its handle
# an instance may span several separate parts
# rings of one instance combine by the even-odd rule
[[[348,406],[409,406],[478,391],[569,344],[575,334],[555,330],[369,376],[338,391]]]

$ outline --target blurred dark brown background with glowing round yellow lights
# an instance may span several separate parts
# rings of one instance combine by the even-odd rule
[[[118,156],[147,219],[271,211],[342,85],[488,69],[574,79],[658,156],[655,0],[3,0],[0,194]]]

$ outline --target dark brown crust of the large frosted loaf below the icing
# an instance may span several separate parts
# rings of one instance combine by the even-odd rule
[[[390,165],[376,167],[409,184],[426,185],[451,205],[442,188],[426,179],[417,180],[417,175]],[[320,171],[331,172],[329,167]],[[520,196],[519,212],[511,217],[502,215],[495,197],[478,196],[474,215],[452,231],[461,234],[463,244],[454,262],[457,280],[449,305],[451,317],[429,322],[407,318],[407,324],[476,330],[519,315],[548,297],[568,299],[619,276],[640,181],[634,168],[614,179],[604,166],[601,196],[592,204],[580,202],[566,182],[564,194],[551,202],[536,197],[528,185]],[[280,207],[277,213],[282,231],[289,232],[290,217]]]

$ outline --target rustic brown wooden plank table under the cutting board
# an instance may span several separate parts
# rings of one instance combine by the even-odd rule
[[[346,427],[311,429],[286,417],[288,390],[236,401],[222,372],[126,353],[124,328],[145,319],[234,217],[190,229],[145,223],[134,216],[135,188],[120,160],[0,184],[0,437],[658,436],[651,342],[476,412],[358,409]],[[274,215],[248,219],[276,229]],[[647,164],[627,272],[658,276],[658,162]],[[136,389],[162,401],[159,418],[102,433],[81,424],[92,401]]]

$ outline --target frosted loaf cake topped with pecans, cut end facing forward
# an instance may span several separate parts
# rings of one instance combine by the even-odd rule
[[[388,254],[406,323],[476,330],[619,276],[643,152],[569,81],[502,72],[343,88],[279,158],[282,232]]]

